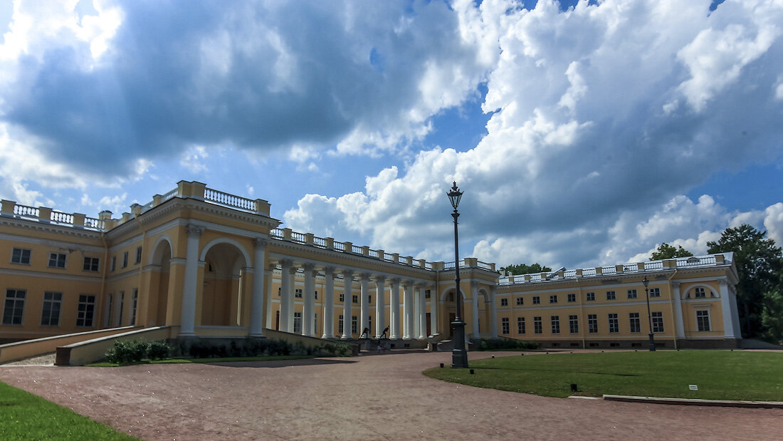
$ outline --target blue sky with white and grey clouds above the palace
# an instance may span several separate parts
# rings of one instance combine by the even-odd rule
[[[0,197],[180,179],[284,226],[500,265],[783,244],[783,1],[0,2]]]

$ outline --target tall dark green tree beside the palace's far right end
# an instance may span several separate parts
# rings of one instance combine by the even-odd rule
[[[734,252],[739,277],[737,306],[745,338],[760,337],[764,329],[771,326],[769,321],[766,325],[762,323],[762,312],[765,295],[774,292],[779,284],[783,255],[774,240],[764,238],[766,235],[766,231],[743,224],[727,228],[716,242],[707,242],[710,254]],[[783,317],[778,316],[778,320]]]

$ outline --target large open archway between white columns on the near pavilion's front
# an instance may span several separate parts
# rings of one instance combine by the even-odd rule
[[[242,287],[247,261],[235,244],[221,242],[204,255],[204,288],[200,298],[201,326],[242,325]]]

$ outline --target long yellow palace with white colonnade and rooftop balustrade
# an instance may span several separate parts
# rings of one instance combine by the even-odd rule
[[[180,181],[113,218],[2,201],[0,343],[115,327],[179,339],[448,340],[454,262],[426,262],[280,228],[269,203]],[[467,338],[561,348],[736,347],[733,255],[500,277],[465,258]],[[387,329],[388,328],[388,329]],[[384,331],[385,334],[384,334]]]

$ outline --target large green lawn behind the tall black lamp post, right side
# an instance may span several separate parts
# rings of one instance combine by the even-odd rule
[[[783,353],[657,351],[554,353],[471,361],[475,374],[428,369],[431,378],[542,396],[659,396],[783,401]],[[575,383],[579,392],[571,392]],[[688,385],[698,385],[691,391]]]

